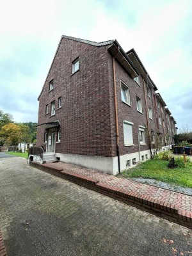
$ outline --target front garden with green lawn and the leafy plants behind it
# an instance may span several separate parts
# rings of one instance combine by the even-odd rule
[[[118,177],[154,179],[157,182],[192,188],[192,161],[188,156],[174,156],[171,153],[170,151],[160,152],[154,156],[154,159],[125,170]],[[168,167],[172,157],[174,157],[175,168]]]

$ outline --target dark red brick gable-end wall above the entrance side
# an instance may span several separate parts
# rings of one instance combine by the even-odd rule
[[[56,152],[112,156],[109,111],[108,46],[94,47],[63,38],[39,99],[38,123],[60,121],[61,143]],[[79,71],[72,75],[72,61],[79,57]],[[54,90],[49,92],[49,81]],[[62,97],[62,108],[50,116],[51,102]],[[49,115],[45,105],[49,104]],[[38,128],[37,145],[44,143]]]

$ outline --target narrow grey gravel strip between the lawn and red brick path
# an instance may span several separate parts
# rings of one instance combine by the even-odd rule
[[[188,194],[188,195],[192,195],[192,188],[183,188],[183,187],[180,187],[180,186],[177,186],[177,185],[168,184],[166,182],[158,181],[158,180],[155,180],[155,179],[132,178],[131,180],[136,180],[136,181],[147,183],[147,184],[157,186],[157,187],[160,187],[160,188],[171,189],[173,191],[177,191],[177,192],[185,193],[185,194]]]

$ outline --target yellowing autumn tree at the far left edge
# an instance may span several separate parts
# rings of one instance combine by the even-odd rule
[[[3,125],[0,131],[0,140],[7,145],[17,145],[22,138],[19,125],[10,123]]]

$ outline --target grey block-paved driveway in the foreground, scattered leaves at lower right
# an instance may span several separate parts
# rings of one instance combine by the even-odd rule
[[[192,230],[36,170],[21,157],[0,161],[0,227],[9,256],[192,255]]]

